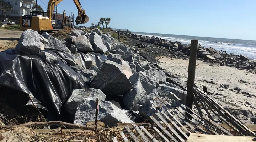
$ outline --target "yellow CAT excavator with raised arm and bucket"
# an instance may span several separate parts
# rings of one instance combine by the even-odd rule
[[[64,26],[67,26],[65,11],[63,12],[63,23],[60,26],[56,25],[54,13],[54,7],[62,1],[63,0],[50,0],[48,2],[47,12],[33,11],[30,15],[20,17],[20,29],[33,29],[38,32],[52,32],[64,28]],[[76,24],[87,23],[89,21],[89,17],[85,14],[85,10],[82,8],[81,3],[79,0],[73,0],[73,2],[78,9],[78,17],[76,17],[75,20]]]

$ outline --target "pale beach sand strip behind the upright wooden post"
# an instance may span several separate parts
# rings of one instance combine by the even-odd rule
[[[181,80],[187,81],[188,74],[188,60],[167,58],[165,56],[158,56],[160,66],[172,74],[176,74]],[[238,80],[244,80],[247,83],[240,83]],[[214,81],[216,84],[210,84],[206,81]],[[256,73],[249,73],[245,70],[238,70],[234,67],[227,66],[209,66],[209,64],[197,60],[195,84],[198,87],[206,86],[208,92],[220,93],[221,95],[211,95],[223,106],[238,110],[251,110],[253,114],[256,113]],[[228,84],[228,89],[223,89],[220,84]],[[233,92],[229,89],[239,87],[242,91],[249,92],[252,97],[239,92]],[[249,102],[251,105],[246,104]],[[254,107],[254,108],[252,108]],[[250,122],[250,119],[248,120]],[[251,122],[250,122],[251,123]]]

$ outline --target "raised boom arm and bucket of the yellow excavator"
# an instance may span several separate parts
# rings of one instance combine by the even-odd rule
[[[62,2],[63,0],[50,0],[48,2],[48,7],[47,7],[47,16],[49,17],[50,20],[53,19],[53,12],[54,12],[54,7]],[[76,5],[76,8],[78,9],[78,17],[76,17],[76,24],[84,24],[89,21],[89,17],[85,14],[85,10],[82,9],[81,3],[79,0],[73,0],[73,2]]]

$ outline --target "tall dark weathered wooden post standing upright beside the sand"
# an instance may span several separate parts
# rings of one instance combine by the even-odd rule
[[[197,44],[198,40],[191,40],[190,43],[190,59],[188,63],[188,80],[187,80],[187,99],[186,104],[192,110],[193,105],[193,85],[196,73],[196,56],[197,56]],[[186,113],[191,118],[191,116]]]

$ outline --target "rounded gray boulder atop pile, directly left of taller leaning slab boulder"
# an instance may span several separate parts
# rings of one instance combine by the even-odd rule
[[[76,37],[74,39],[74,44],[76,48],[82,52],[90,52],[94,50],[91,43],[89,42],[89,39],[87,39],[85,35]]]

